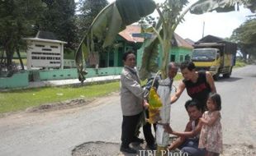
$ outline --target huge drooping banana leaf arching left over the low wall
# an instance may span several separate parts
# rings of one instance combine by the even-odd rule
[[[84,62],[92,53],[113,44],[116,34],[141,17],[151,14],[156,5],[153,0],[117,0],[102,9],[90,25],[88,32],[78,46],[75,60],[78,68],[78,79],[85,80]],[[101,48],[98,48],[100,45]]]

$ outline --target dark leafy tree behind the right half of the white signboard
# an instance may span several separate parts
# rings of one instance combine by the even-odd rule
[[[77,47],[77,27],[75,25],[74,0],[43,0],[46,8],[36,22],[36,30],[53,32],[57,39],[64,40],[68,44],[65,48]]]

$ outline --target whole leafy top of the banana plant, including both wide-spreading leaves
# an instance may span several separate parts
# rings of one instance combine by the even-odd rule
[[[254,0],[198,0],[186,11],[183,7],[187,5],[187,0],[166,0],[163,4],[156,6],[153,0],[116,0],[99,12],[92,21],[88,32],[84,34],[76,52],[76,65],[78,67],[78,77],[81,82],[85,80],[84,62],[90,55],[103,52],[102,49],[113,44],[121,30],[126,28],[141,17],[148,16],[155,9],[159,12],[159,24],[153,29],[156,37],[145,40],[145,53],[140,70],[142,78],[145,78],[150,71],[156,71],[158,65],[155,58],[158,56],[158,47],[162,48],[161,71],[166,77],[166,68],[169,62],[168,52],[171,49],[170,43],[173,39],[173,32],[177,25],[183,21],[183,16],[187,11],[194,14],[202,14],[208,11],[232,11],[235,5],[244,4],[251,11],[256,11]],[[100,46],[97,46],[100,45]]]

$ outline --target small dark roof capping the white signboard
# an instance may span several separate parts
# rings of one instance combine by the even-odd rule
[[[38,31],[36,34],[36,38],[24,38],[26,40],[40,41],[40,42],[48,42],[48,43],[57,43],[57,44],[67,44],[67,42],[57,40],[55,34],[48,31]]]

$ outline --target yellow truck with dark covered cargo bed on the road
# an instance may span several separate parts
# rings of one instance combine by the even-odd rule
[[[219,79],[220,74],[230,77],[235,66],[236,44],[210,35],[193,46],[192,62],[197,71],[210,71],[215,80]]]

